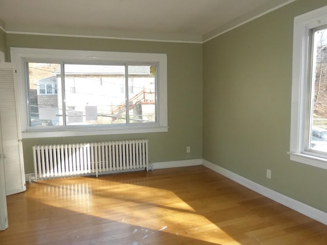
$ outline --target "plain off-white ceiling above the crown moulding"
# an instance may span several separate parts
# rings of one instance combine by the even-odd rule
[[[0,0],[7,33],[202,42],[295,0]]]

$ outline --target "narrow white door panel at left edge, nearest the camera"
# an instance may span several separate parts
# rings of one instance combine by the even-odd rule
[[[1,114],[0,114],[0,129],[1,129]],[[8,228],[8,213],[6,199],[6,182],[5,182],[5,167],[4,154],[2,149],[2,137],[0,134],[0,231]]]

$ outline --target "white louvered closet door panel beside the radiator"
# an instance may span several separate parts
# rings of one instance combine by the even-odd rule
[[[26,190],[15,95],[12,64],[0,63],[1,133],[7,195]]]

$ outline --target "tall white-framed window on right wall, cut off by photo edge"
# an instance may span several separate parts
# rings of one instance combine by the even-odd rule
[[[327,169],[327,6],[294,19],[291,160]]]

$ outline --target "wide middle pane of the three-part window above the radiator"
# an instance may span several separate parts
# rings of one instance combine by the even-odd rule
[[[65,64],[67,125],[126,123],[125,66]]]

